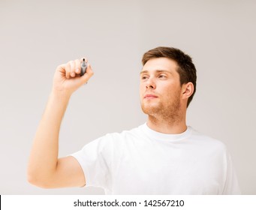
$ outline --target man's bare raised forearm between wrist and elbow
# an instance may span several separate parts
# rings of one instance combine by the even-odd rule
[[[70,97],[51,92],[38,126],[29,157],[28,176],[32,184],[44,184],[53,178],[59,152],[59,130]]]

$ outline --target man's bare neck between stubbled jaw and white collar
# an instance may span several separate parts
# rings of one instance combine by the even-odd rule
[[[155,116],[149,115],[146,124],[149,126],[149,128],[159,133],[178,134],[187,130],[185,117],[176,120],[168,120],[166,118],[156,118]]]

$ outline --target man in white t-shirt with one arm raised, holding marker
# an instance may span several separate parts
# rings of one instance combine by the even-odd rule
[[[72,93],[92,77],[82,60],[56,69],[47,108],[35,135],[28,178],[39,187],[103,187],[107,194],[239,194],[225,145],[186,125],[196,69],[179,49],[143,55],[140,101],[145,124],[108,133],[58,158],[59,127]],[[86,62],[88,62],[86,60]]]

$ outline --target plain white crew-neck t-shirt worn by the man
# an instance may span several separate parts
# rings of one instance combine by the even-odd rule
[[[108,133],[71,155],[86,186],[106,194],[240,194],[225,145],[191,127],[165,134],[145,123]]]

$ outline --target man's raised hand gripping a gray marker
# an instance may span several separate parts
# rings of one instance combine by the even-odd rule
[[[83,86],[83,84],[88,82],[94,73],[92,71],[91,65],[86,59],[86,63],[88,65],[86,74],[80,77],[82,62],[83,58],[59,65],[56,68],[56,73],[53,77],[53,92],[57,94],[61,93],[69,97],[80,86]]]

